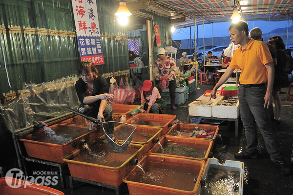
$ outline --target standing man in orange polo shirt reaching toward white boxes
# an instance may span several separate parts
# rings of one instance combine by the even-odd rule
[[[238,89],[239,110],[246,135],[246,150],[235,154],[236,158],[258,158],[257,127],[263,135],[272,162],[281,173],[291,174],[291,167],[285,163],[279,143],[273,130],[267,109],[272,109],[272,86],[274,65],[266,43],[248,37],[246,22],[232,23],[230,39],[241,46],[235,51],[230,66],[222,75],[210,96],[216,98],[217,89],[230,77],[234,69],[241,68]]]

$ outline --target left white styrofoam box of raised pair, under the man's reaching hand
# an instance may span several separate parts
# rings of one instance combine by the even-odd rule
[[[209,102],[210,97],[206,97],[204,95],[197,98],[195,101],[188,104],[189,116],[203,116],[203,117],[212,117],[212,106],[217,104],[221,99],[221,96],[218,96],[216,99],[210,99],[210,105],[204,105]],[[198,100],[200,100],[201,104],[197,104]]]

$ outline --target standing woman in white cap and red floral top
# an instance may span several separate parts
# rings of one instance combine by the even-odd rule
[[[175,65],[174,60],[171,57],[166,56],[165,49],[160,47],[158,49],[158,60],[155,62],[155,68],[153,70],[154,77],[157,80],[162,80],[166,78],[169,81],[169,94],[171,108],[176,110],[175,107],[175,95],[176,95],[176,70],[177,66]],[[160,73],[161,72],[161,73]]]

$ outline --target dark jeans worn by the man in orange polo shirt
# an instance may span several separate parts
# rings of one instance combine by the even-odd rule
[[[276,162],[283,159],[283,156],[274,133],[273,122],[269,114],[271,111],[264,108],[266,89],[266,86],[254,87],[253,85],[240,85],[238,89],[239,109],[243,127],[245,128],[247,141],[246,151],[256,152],[258,143],[257,125],[264,138],[272,162]],[[272,105],[269,109],[272,109]]]

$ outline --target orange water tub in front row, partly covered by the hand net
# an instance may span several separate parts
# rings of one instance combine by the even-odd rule
[[[123,176],[132,166],[130,161],[137,159],[144,148],[142,144],[130,143],[125,153],[115,153],[103,139],[95,139],[88,145],[98,158],[89,158],[84,146],[63,157],[71,176],[112,186],[122,184]]]

